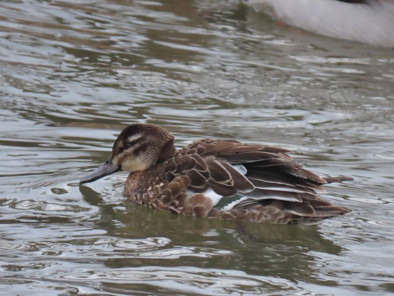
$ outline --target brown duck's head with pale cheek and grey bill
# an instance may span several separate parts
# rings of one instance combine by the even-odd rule
[[[174,153],[174,136],[162,127],[133,123],[119,134],[107,161],[79,182],[93,182],[119,170],[130,173],[143,171],[170,158]]]

